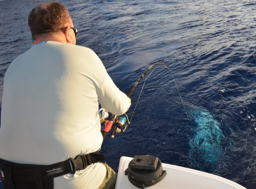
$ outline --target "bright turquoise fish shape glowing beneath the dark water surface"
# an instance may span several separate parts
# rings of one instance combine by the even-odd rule
[[[194,136],[189,138],[188,163],[195,169],[212,173],[223,156],[221,143],[225,136],[220,123],[203,109],[194,110],[189,116],[196,128]]]

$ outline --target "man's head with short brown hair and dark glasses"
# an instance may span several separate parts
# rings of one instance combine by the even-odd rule
[[[44,3],[32,9],[28,23],[34,43],[41,40],[76,42],[69,11],[57,2]]]

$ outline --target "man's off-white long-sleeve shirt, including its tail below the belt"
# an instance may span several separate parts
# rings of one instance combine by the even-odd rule
[[[33,45],[5,74],[0,158],[52,164],[97,151],[99,103],[117,115],[130,107],[92,50],[56,41]],[[54,188],[97,188],[105,173],[94,163],[55,178]]]

